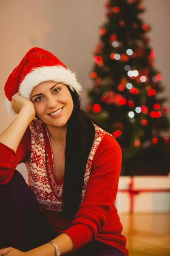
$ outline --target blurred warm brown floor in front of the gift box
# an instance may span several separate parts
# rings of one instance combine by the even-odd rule
[[[122,214],[129,256],[170,256],[170,214]]]

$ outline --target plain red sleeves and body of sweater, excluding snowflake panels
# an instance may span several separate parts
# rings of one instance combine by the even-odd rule
[[[31,154],[29,128],[21,140],[16,154],[0,143],[0,184],[5,185],[19,163],[25,163]],[[116,247],[126,256],[126,239],[121,234],[122,224],[114,205],[116,199],[122,153],[116,140],[105,135],[100,142],[92,162],[91,175],[85,198],[72,219],[60,218],[59,212],[44,210],[48,221],[56,232],[67,233],[74,242],[74,251],[92,240]]]

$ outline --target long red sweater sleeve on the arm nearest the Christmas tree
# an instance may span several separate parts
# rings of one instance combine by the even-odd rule
[[[73,240],[74,251],[93,241],[105,225],[108,211],[116,199],[121,163],[119,144],[105,135],[94,155],[85,198],[70,228],[63,232]]]

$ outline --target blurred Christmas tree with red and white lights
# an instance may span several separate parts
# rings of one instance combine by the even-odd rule
[[[107,22],[99,29],[87,111],[122,148],[122,175],[170,172],[170,136],[161,74],[139,14],[141,0],[108,0]]]

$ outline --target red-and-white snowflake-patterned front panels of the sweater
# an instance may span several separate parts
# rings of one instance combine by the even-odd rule
[[[60,212],[63,206],[62,193],[64,180],[57,180],[54,175],[53,154],[47,127],[40,120],[33,120],[29,127],[31,131],[31,156],[26,161],[28,185],[34,193],[40,207]],[[95,137],[85,168],[81,201],[83,201],[85,197],[96,149],[105,135],[111,135],[97,125],[94,125],[94,127]],[[45,137],[45,130],[48,135],[47,137]],[[50,146],[47,148],[47,145]],[[52,166],[49,161],[49,155],[52,159]]]

